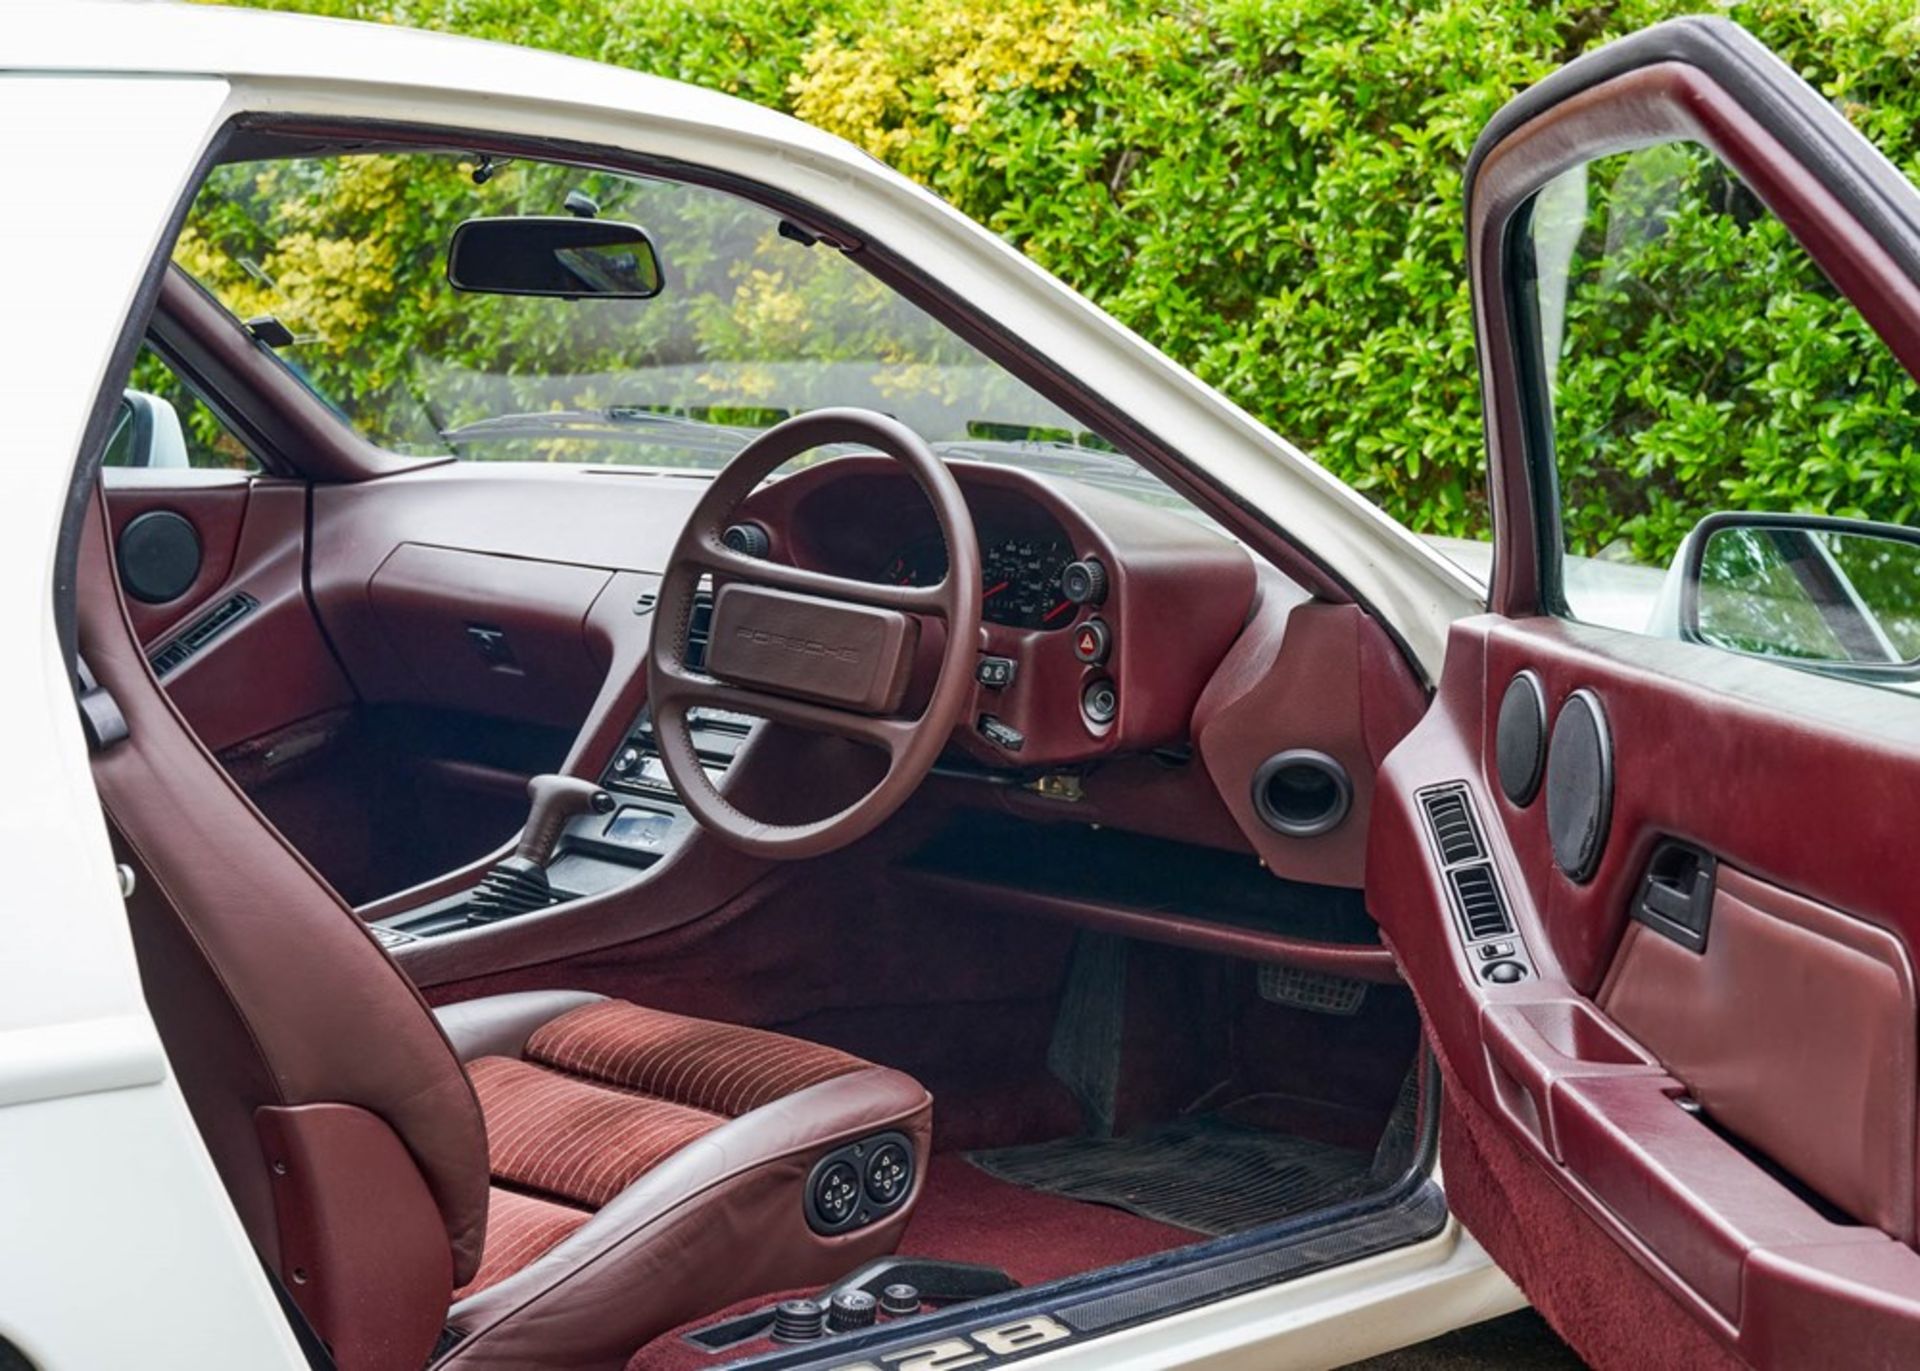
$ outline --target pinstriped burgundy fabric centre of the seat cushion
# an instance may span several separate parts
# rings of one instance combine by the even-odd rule
[[[522,1054],[468,1062],[493,1173],[480,1271],[520,1271],[689,1142],[866,1062],[816,1043],[595,1000],[536,1027]]]

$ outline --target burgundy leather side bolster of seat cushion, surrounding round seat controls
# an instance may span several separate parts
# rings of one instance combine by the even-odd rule
[[[616,1194],[532,1265],[457,1302],[465,1333],[445,1367],[622,1367],[676,1310],[720,1308],[776,1285],[826,1285],[891,1252],[918,1198],[854,1233],[822,1237],[801,1206],[820,1154],[897,1129],[925,1167],[933,1100],[900,1071],[868,1066],[730,1119]],[[724,1275],[720,1275],[724,1273]],[[689,1287],[689,1283],[697,1283]],[[634,1306],[660,1311],[639,1331]]]

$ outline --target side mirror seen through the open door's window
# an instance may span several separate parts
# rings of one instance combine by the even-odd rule
[[[1837,674],[1920,680],[1920,530],[1709,515],[1680,549],[1680,636]]]

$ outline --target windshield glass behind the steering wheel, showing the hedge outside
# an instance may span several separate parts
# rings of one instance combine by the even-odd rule
[[[447,282],[461,221],[568,211],[641,227],[660,294]],[[705,186],[442,152],[232,163],[175,259],[284,326],[278,357],[397,453],[716,469],[789,415],[858,405],[950,457],[1185,503],[847,253]]]

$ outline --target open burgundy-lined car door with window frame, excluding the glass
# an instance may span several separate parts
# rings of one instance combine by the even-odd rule
[[[1467,167],[1494,613],[1455,624],[1434,707],[1382,768],[1369,906],[1442,1064],[1450,1202],[1578,1350],[1912,1365],[1914,699],[1549,616],[1565,315],[1544,321],[1534,282],[1565,263],[1536,255],[1534,196],[1663,142],[1738,173],[1907,371],[1920,363],[1920,196],[1734,25],[1661,25],[1496,115]],[[1515,785],[1526,758],[1500,778],[1523,672],[1551,739],[1540,797]],[[1571,701],[1601,741],[1555,766]],[[1444,795],[1471,806],[1484,853],[1440,841]],[[1582,822],[1590,864],[1569,858]]]

